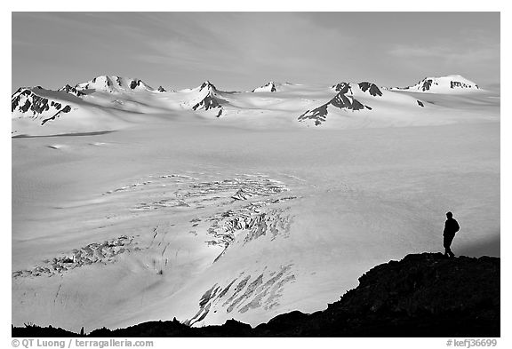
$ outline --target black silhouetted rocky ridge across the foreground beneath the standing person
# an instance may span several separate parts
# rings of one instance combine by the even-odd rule
[[[12,327],[12,337],[76,337],[52,327]],[[252,328],[235,320],[190,328],[148,321],[88,337],[500,337],[500,258],[408,255],[373,267],[327,309],[276,316]]]

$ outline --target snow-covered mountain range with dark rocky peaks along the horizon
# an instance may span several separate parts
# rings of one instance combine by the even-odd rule
[[[14,121],[23,118],[41,120],[38,126],[47,127],[60,123],[57,122],[58,119],[66,119],[66,126],[57,127],[66,129],[68,125],[73,124],[76,111],[80,111],[80,120],[84,120],[84,123],[77,123],[77,128],[80,129],[80,125],[84,125],[84,130],[79,131],[105,131],[101,125],[94,125],[96,118],[93,115],[98,113],[100,108],[100,113],[106,115],[104,120],[108,119],[108,114],[124,111],[140,115],[166,115],[186,110],[201,117],[232,120],[245,116],[251,118],[257,115],[280,114],[285,115],[298,127],[324,127],[324,123],[328,123],[329,127],[340,128],[381,127],[394,126],[397,123],[432,123],[433,119],[426,115],[432,109],[439,110],[440,107],[436,103],[403,92],[420,91],[432,94],[449,89],[454,95],[460,95],[460,91],[468,89],[482,91],[475,83],[460,75],[425,78],[414,86],[387,88],[362,81],[340,82],[330,87],[313,88],[270,81],[252,91],[222,91],[211,81],[206,80],[196,88],[168,91],[163,86],[154,89],[138,78],[100,75],[74,86],[67,83],[55,91],[43,89],[41,86],[20,88],[12,94],[12,120],[13,125]],[[441,87],[444,90],[439,90]],[[424,113],[425,110],[427,113]],[[397,112],[409,115],[410,121],[402,115],[397,115]],[[66,117],[61,117],[63,115]],[[115,125],[118,119],[107,123]],[[445,122],[439,119],[436,123]],[[119,127],[124,126],[125,123]],[[13,134],[55,133],[26,122],[13,128]]]

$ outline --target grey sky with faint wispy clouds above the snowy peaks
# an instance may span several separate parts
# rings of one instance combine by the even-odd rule
[[[500,83],[500,12],[12,12],[12,91],[98,75],[248,91],[452,74]]]

